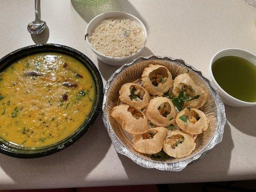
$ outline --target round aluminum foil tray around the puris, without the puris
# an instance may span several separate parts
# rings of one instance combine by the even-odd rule
[[[144,68],[149,64],[160,64],[169,69],[173,79],[181,73],[188,72],[195,84],[202,87],[208,94],[205,105],[200,108],[210,121],[209,127],[195,139],[195,150],[182,158],[158,157],[141,154],[134,150],[131,140],[122,131],[119,124],[110,115],[110,110],[119,104],[119,90],[122,84],[138,81]],[[165,56],[139,57],[134,61],[122,65],[112,74],[104,89],[103,99],[103,122],[110,135],[115,150],[133,160],[145,168],[156,168],[167,171],[180,171],[188,164],[195,163],[206,156],[207,152],[222,140],[224,126],[226,123],[225,108],[217,91],[210,85],[202,72],[197,71],[191,65],[181,59]]]

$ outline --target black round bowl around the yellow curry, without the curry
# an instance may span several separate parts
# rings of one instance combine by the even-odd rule
[[[0,71],[2,71],[16,60],[19,60],[27,55],[40,52],[58,52],[66,54],[79,60],[85,65],[85,67],[91,72],[96,87],[96,99],[94,101],[93,108],[83,124],[72,135],[65,138],[64,140],[45,147],[28,148],[10,144],[0,138],[0,153],[2,154],[18,158],[36,158],[41,156],[48,156],[50,154],[61,151],[62,149],[65,149],[66,147],[73,144],[78,138],[80,138],[85,132],[89,130],[101,110],[103,101],[103,83],[100,73],[95,64],[88,57],[74,48],[58,44],[37,44],[20,48],[0,59]]]

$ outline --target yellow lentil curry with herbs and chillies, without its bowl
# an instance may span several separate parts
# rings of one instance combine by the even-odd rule
[[[24,147],[57,143],[83,123],[95,99],[95,85],[78,60],[39,53],[0,73],[0,137]]]

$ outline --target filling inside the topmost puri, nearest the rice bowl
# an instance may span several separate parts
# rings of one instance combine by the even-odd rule
[[[157,87],[158,85],[162,85],[167,81],[167,78],[169,77],[167,73],[167,69],[163,67],[159,67],[158,69],[153,70],[148,75],[151,83]]]

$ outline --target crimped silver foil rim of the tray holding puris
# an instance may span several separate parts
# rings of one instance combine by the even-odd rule
[[[110,124],[110,120],[108,117],[109,116],[108,110],[107,110],[107,101],[108,101],[108,95],[109,95],[109,90],[110,90],[109,89],[110,84],[112,83],[112,81],[114,81],[114,79],[123,70],[125,70],[126,68],[130,67],[133,64],[137,64],[137,63],[143,62],[145,60],[167,60],[167,61],[172,61],[172,62],[175,60],[181,61],[180,65],[195,72],[202,80],[205,81],[205,83],[207,84],[207,87],[214,95],[214,101],[215,101],[215,104],[217,107],[217,116],[218,116],[216,131],[215,131],[213,137],[208,142],[208,144],[206,144],[194,156],[191,156],[187,159],[179,160],[176,162],[159,162],[159,161],[147,160],[140,156],[137,156],[132,151],[130,151],[124,144],[122,144],[122,142],[118,139],[118,136],[113,131],[112,126]],[[144,168],[156,168],[158,170],[167,170],[167,171],[181,171],[187,165],[193,164],[193,163],[199,161],[204,156],[206,156],[210,149],[212,149],[216,144],[219,144],[222,141],[224,127],[227,123],[224,104],[223,104],[222,100],[220,99],[219,94],[216,91],[216,89],[211,86],[209,80],[202,74],[202,72],[196,70],[193,66],[185,63],[184,60],[182,60],[180,58],[172,58],[172,57],[168,57],[168,56],[151,55],[151,56],[147,56],[147,57],[139,57],[130,63],[126,63],[126,64],[122,65],[116,72],[114,72],[111,75],[110,79],[108,80],[107,84],[104,87],[104,99],[103,99],[103,105],[102,105],[102,112],[103,112],[102,119],[103,119],[105,128],[106,128],[107,132],[109,133],[110,139],[112,141],[112,144],[113,144],[115,150],[118,153],[129,157],[136,164],[138,164]],[[154,165],[152,165],[152,164],[154,164]]]

